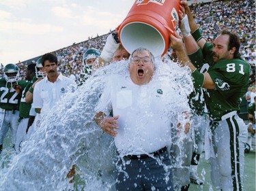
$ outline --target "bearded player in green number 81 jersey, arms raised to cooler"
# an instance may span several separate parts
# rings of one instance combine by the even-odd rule
[[[186,49],[177,33],[170,36],[170,46],[178,51],[182,66],[186,65],[192,71],[195,87],[207,89],[204,99],[211,120],[211,134],[205,142],[210,143],[212,151],[209,153],[211,179],[218,190],[242,190],[247,132],[238,112],[240,99],[248,86],[250,65],[240,57],[238,35],[223,30],[212,44],[208,43],[202,37],[187,1],[181,3],[184,6],[181,12],[186,11],[188,15],[184,16],[186,23],[183,27],[180,25]],[[207,72],[200,73],[197,63],[191,63],[187,54],[195,52],[201,54],[199,59],[204,58],[209,63]]]

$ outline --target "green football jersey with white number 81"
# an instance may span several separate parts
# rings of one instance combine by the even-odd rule
[[[251,71],[250,65],[242,59],[212,60],[212,44],[206,43],[203,47],[203,56],[210,67],[208,73],[212,78],[215,89],[206,90],[205,103],[210,118],[221,120],[221,116],[240,111],[240,102],[246,93]]]

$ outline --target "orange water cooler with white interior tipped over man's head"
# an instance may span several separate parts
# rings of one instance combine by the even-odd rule
[[[169,35],[179,23],[180,0],[137,0],[117,27],[119,39],[128,52],[148,48],[161,56],[169,48]]]

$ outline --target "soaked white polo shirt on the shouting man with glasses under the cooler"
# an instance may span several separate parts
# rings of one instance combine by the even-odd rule
[[[120,156],[155,152],[171,145],[171,118],[189,111],[186,94],[169,82],[138,86],[130,76],[115,75],[106,82],[96,112],[119,115],[115,145]],[[182,104],[184,103],[184,104]]]

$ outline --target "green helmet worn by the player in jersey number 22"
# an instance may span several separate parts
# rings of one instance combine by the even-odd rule
[[[3,68],[6,82],[18,82],[20,80],[20,72],[17,65],[8,64]]]

